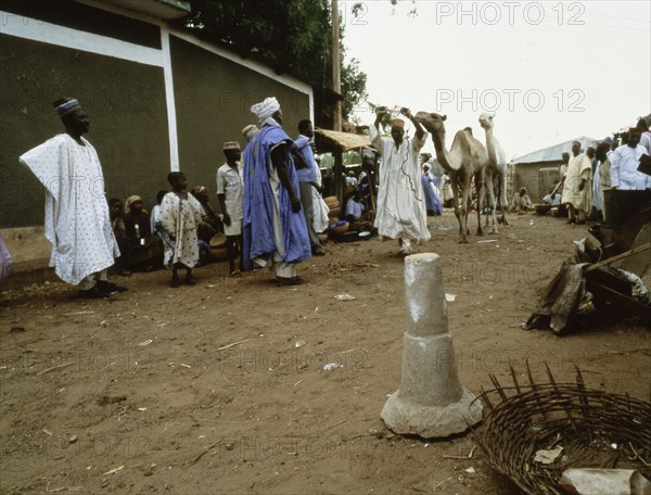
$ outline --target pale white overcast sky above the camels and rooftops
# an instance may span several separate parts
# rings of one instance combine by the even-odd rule
[[[651,2],[366,0],[358,18],[354,3],[340,0],[346,59],[368,75],[369,101],[446,114],[447,147],[465,126],[484,141],[490,110],[509,160],[651,113]]]

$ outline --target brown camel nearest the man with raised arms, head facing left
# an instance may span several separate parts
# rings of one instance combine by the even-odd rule
[[[459,221],[459,243],[467,243],[470,230],[468,229],[468,215],[470,213],[470,193],[474,177],[477,198],[481,198],[484,183],[484,169],[488,165],[488,153],[484,145],[477,141],[472,132],[459,130],[452,140],[450,151],[445,149],[446,115],[437,113],[419,112],[416,119],[432,135],[436,160],[450,177],[455,203],[455,216]],[[461,204],[459,204],[459,190],[461,190]],[[482,236],[481,208],[477,207],[477,236]]]

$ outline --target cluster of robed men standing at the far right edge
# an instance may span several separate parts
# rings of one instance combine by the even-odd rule
[[[639,170],[651,155],[651,132],[643,118],[630,127],[626,142],[617,145],[612,138],[599,141],[596,148],[582,153],[579,141],[572,143],[570,157],[564,153],[561,165],[562,198],[570,224],[599,219],[603,213],[603,191],[608,189],[651,189],[651,176]],[[641,142],[641,143],[640,143]]]

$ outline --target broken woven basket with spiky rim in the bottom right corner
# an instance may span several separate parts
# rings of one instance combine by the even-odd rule
[[[526,494],[565,494],[558,484],[569,468],[638,469],[651,479],[651,403],[628,395],[586,389],[576,368],[576,383],[557,383],[547,364],[549,383],[537,384],[527,363],[528,384],[501,386],[477,397],[484,428],[472,433],[490,465]],[[562,446],[549,465],[534,461],[536,452]]]

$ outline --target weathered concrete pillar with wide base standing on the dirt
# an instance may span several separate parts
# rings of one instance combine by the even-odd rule
[[[424,439],[463,432],[482,419],[482,404],[461,385],[437,254],[405,258],[409,328],[404,335],[403,379],[380,417],[396,433]]]

